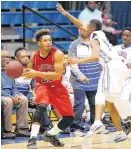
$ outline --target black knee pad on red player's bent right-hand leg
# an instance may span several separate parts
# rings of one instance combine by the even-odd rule
[[[74,121],[73,116],[63,116],[62,119],[58,123],[58,128],[61,130],[65,130],[69,127]]]

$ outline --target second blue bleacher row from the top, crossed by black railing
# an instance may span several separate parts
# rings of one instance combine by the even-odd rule
[[[58,11],[39,11],[39,13],[49,20],[53,21],[54,23],[59,24],[69,24],[71,23],[69,19],[67,19],[65,16],[63,16]],[[78,14],[80,11],[69,11],[74,17],[78,17]],[[1,13],[1,22],[2,25],[16,25],[16,24],[22,24],[22,12],[2,12]],[[26,12],[25,13],[25,22],[26,23],[40,23],[40,24],[49,24],[48,21],[42,19],[38,15],[32,13],[32,12]]]

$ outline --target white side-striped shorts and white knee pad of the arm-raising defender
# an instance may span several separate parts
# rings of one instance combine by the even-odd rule
[[[115,59],[108,62],[99,79],[96,105],[105,105],[105,100],[114,102],[115,99],[120,99],[127,75],[128,68],[121,60]]]

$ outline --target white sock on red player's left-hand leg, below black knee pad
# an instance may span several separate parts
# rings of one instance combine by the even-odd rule
[[[40,129],[40,125],[32,124],[30,138],[37,137],[39,133],[39,129]]]

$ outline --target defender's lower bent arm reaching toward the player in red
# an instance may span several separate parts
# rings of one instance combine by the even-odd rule
[[[99,60],[99,50],[100,50],[100,44],[98,40],[92,40],[90,43],[91,49],[92,49],[92,55],[83,58],[83,59],[76,59],[76,58],[68,58],[68,62],[70,64],[82,64],[87,62],[96,62]]]

